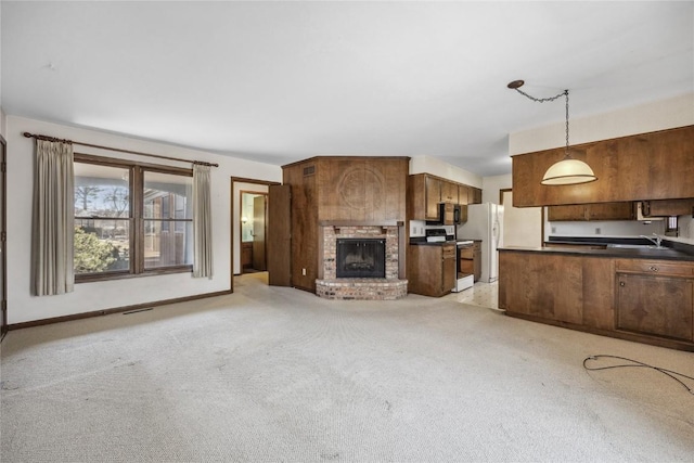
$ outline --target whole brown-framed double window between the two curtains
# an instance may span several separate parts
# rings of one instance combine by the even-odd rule
[[[191,271],[192,170],[75,154],[75,280]]]

